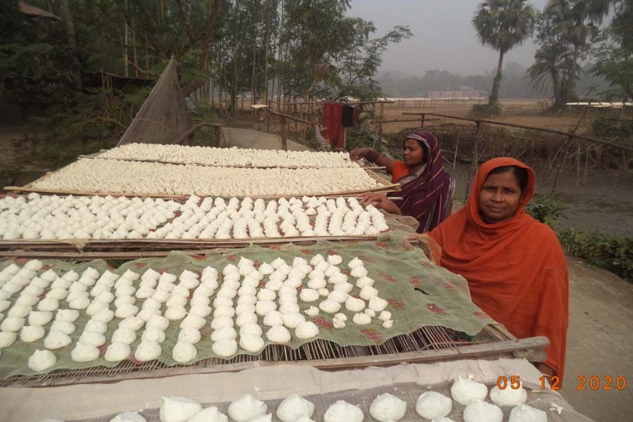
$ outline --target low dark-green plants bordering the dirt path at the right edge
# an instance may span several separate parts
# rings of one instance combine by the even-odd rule
[[[558,231],[565,252],[633,282],[633,238],[597,231]]]

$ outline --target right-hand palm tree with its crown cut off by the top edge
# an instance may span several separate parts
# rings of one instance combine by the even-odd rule
[[[563,41],[573,45],[573,57],[568,60],[565,89],[561,101],[566,103],[574,93],[578,78],[578,60],[589,39],[598,33],[598,25],[609,12],[610,0],[549,0],[545,13],[553,16],[556,30]]]

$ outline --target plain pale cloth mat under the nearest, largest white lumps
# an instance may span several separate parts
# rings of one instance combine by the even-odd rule
[[[30,422],[45,417],[66,417],[67,421],[108,422],[121,411],[142,410],[148,422],[158,422],[160,397],[189,397],[214,405],[224,414],[231,401],[245,393],[267,403],[273,421],[281,400],[292,393],[302,395],[315,404],[312,417],[322,421],[323,414],[336,400],[345,400],[363,410],[365,421],[369,406],[377,395],[388,392],[407,402],[402,421],[426,421],[415,412],[419,395],[427,391],[450,397],[452,379],[472,375],[490,388],[499,376],[520,376],[528,389],[528,405],[545,411],[550,422],[592,422],[575,412],[563,397],[551,390],[540,390],[534,366],[520,359],[497,361],[457,361],[432,365],[403,364],[391,368],[367,368],[328,373],[313,368],[281,366],[276,369],[256,368],[239,373],[217,373],[198,376],[176,376],[159,380],[123,381],[116,385],[74,385],[59,388],[4,388],[0,399],[8,403],[6,416]],[[222,387],[219,387],[222,386]],[[61,404],[59,397],[73,397],[76,404]],[[490,399],[487,399],[490,401]],[[52,409],[46,409],[46,405]],[[511,407],[502,407],[504,421]],[[449,417],[462,422],[463,406],[453,402]],[[107,415],[107,416],[106,416]],[[0,416],[1,420],[2,416]],[[39,419],[37,419],[39,418]]]

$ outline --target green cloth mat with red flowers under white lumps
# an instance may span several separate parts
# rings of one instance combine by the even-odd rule
[[[184,252],[172,252],[165,259],[147,258],[126,262],[120,265],[115,272],[122,274],[127,269],[132,269],[132,271],[142,273],[149,267],[157,271],[180,274],[184,269],[200,271],[209,265],[221,271],[227,264],[231,262],[237,263],[240,257],[247,257],[257,262],[271,262],[276,257],[282,257],[286,262],[292,262],[293,257],[305,257],[309,260],[312,255],[317,253],[321,253],[321,255],[328,253],[340,254],[343,257],[343,264],[340,267],[342,269],[345,268],[344,272],[347,271],[347,262],[350,262],[354,257],[360,257],[365,262],[369,276],[376,280],[375,286],[378,288],[379,294],[382,298],[388,300],[387,310],[392,312],[395,324],[392,328],[386,329],[381,325],[382,321],[374,318],[369,325],[357,326],[352,323],[353,313],[342,307],[340,312],[347,314],[349,319],[342,330],[333,328],[330,314],[321,312],[319,316],[312,318],[312,321],[319,325],[320,328],[320,333],[316,339],[328,340],[340,346],[375,346],[381,345],[386,340],[397,335],[413,333],[421,327],[440,326],[467,333],[468,335],[475,335],[482,328],[494,322],[471,302],[468,284],[465,279],[452,274],[446,269],[435,266],[420,248],[415,248],[402,236],[397,236],[397,234],[383,236],[376,242],[359,242],[343,248],[335,243],[321,241],[315,245],[301,248],[292,244],[279,248],[260,248],[253,245],[240,250],[224,252],[218,250],[207,255],[188,255]],[[1,263],[0,269],[10,263],[11,261]],[[108,264],[103,260],[95,260],[80,265],[45,260],[44,264],[46,268],[53,268],[59,272],[69,269],[81,272],[87,267],[93,267],[100,272],[108,269]],[[136,281],[136,286],[138,286],[138,283],[139,281]],[[358,292],[359,289],[354,286],[351,294],[357,295]],[[15,298],[13,300],[15,301]],[[140,302],[138,304],[140,307]],[[316,302],[306,303],[300,301],[299,305],[303,312],[311,305],[316,305]],[[60,301],[60,307],[68,307],[65,300]],[[207,326],[203,328],[202,332],[203,340],[196,345],[198,355],[195,362],[216,357],[211,350],[212,342],[209,338],[212,330],[207,328],[211,319],[211,315],[207,316]],[[88,320],[89,316],[82,313],[75,322],[77,330],[70,335],[74,342],[81,335]],[[108,324],[106,339],[109,339],[115,331],[117,322],[118,319],[114,319]],[[174,321],[167,328],[165,331],[167,338],[161,345],[162,355],[158,360],[167,366],[177,364],[172,359],[172,348],[177,341],[179,322]],[[140,332],[137,334],[136,342],[132,344],[133,351],[140,343]],[[302,340],[293,337],[288,346],[296,350],[312,340]],[[271,343],[267,341],[268,344]],[[106,343],[107,345],[108,343]],[[82,364],[72,362],[70,352],[73,345],[69,345],[54,352],[57,357],[57,363],[54,366],[41,373],[35,373],[27,367],[28,357],[34,350],[42,349],[43,346],[44,338],[30,344],[16,341],[16,343],[4,349],[0,358],[0,376],[3,378],[20,374],[37,376],[57,369],[88,369],[96,366],[112,368],[117,366],[117,364],[103,359],[106,346],[103,347],[101,357],[93,362]],[[397,352],[397,350],[394,352]],[[238,350],[238,353],[248,354],[241,349]],[[123,362],[123,364],[125,363]]]

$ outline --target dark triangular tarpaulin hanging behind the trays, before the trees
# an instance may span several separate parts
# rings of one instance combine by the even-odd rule
[[[191,117],[180,89],[176,65],[176,58],[172,57],[117,146],[174,143],[191,129]]]

